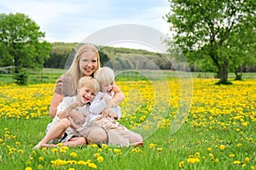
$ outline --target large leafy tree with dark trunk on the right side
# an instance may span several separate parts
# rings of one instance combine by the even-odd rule
[[[233,31],[243,30],[240,28],[255,17],[254,1],[169,0],[169,2],[171,12],[166,14],[166,21],[172,24],[170,30],[174,32],[174,42],[182,48],[186,58],[189,58],[187,55],[189,52],[199,51],[204,54],[201,56],[212,59],[213,64],[218,68],[219,83],[229,83],[231,47],[227,42]],[[255,28],[255,22],[252,25]]]

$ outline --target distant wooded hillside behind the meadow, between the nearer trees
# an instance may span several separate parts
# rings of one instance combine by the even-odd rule
[[[73,60],[76,48],[79,43],[53,42],[49,59],[45,60],[44,68],[68,68]],[[154,53],[143,49],[97,47],[101,58],[101,66],[110,66],[115,70],[190,70],[190,71],[211,71],[214,66],[204,65],[200,62],[185,64],[178,62],[172,65],[172,56],[168,54]],[[198,64],[200,63],[200,64]],[[174,69],[175,68],[175,69]],[[255,72],[256,65],[253,67],[241,68],[243,72]]]

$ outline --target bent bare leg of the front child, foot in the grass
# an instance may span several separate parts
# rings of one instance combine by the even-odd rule
[[[46,146],[47,143],[52,139],[61,138],[61,136],[67,130],[67,127],[70,126],[70,122],[67,118],[63,118],[58,122],[33,149],[38,149],[41,146]]]

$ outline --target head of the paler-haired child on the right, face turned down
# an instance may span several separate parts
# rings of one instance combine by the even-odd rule
[[[94,77],[100,83],[102,92],[111,94],[114,85],[113,70],[104,66],[96,71]]]

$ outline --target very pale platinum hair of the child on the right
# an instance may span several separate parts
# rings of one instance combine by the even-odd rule
[[[95,72],[94,77],[102,84],[103,82],[114,82],[114,72],[111,68],[104,66]]]

